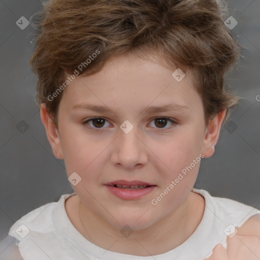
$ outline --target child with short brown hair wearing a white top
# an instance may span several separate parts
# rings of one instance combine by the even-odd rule
[[[16,221],[3,259],[257,259],[260,211],[193,188],[239,100],[224,86],[240,56],[225,5],[44,7],[30,66],[75,192]]]

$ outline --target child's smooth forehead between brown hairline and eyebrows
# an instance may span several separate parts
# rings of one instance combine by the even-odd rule
[[[185,77],[178,82],[172,75],[176,69],[167,68],[152,57],[144,59],[127,53],[110,60],[94,75],[74,79],[64,91],[61,103],[66,100],[70,109],[88,102],[109,104],[111,110],[169,103],[195,106],[200,97],[194,89],[191,71],[186,70]]]

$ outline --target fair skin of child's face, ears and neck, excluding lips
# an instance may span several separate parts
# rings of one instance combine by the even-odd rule
[[[73,172],[81,176],[73,186],[76,196],[66,201],[67,214],[82,236],[102,248],[139,256],[164,253],[187,240],[202,220],[204,198],[191,192],[200,163],[193,164],[156,206],[151,204],[200,154],[207,158],[214,153],[225,114],[219,113],[206,127],[191,72],[177,82],[174,71],[124,54],[101,72],[70,83],[59,104],[58,128],[42,105],[41,118],[54,155],[64,159],[68,177]],[[186,108],[140,112],[168,103]],[[83,104],[109,111],[87,110],[79,106]],[[84,124],[91,117],[105,122]],[[161,128],[154,117],[176,123],[166,120]],[[128,134],[120,129],[125,120],[134,126]],[[139,180],[155,188],[140,199],[125,200],[107,189],[105,183],[115,180]],[[134,231],[129,237],[120,233],[126,224]]]

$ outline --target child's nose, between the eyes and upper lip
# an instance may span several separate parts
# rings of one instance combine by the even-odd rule
[[[147,164],[147,148],[138,127],[134,126],[129,133],[121,129],[118,132],[111,154],[112,164],[125,170],[139,169]]]

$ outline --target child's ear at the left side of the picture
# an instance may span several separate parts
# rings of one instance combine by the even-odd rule
[[[41,105],[41,119],[44,124],[47,138],[52,148],[53,154],[58,159],[63,159],[63,153],[60,145],[60,138],[57,127],[54,125],[49,113],[45,109],[45,104]]]

